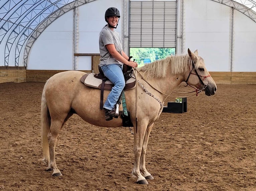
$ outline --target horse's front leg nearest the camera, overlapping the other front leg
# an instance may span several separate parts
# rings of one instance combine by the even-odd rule
[[[148,184],[147,180],[144,176],[140,173],[140,156],[142,150],[143,139],[145,136],[147,126],[138,126],[137,132],[134,130],[134,145],[133,145],[133,152],[134,152],[134,166],[132,170],[132,175],[137,178],[136,183],[138,184]]]

